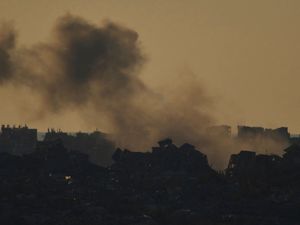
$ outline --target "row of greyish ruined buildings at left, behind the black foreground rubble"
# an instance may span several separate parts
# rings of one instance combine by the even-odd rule
[[[13,155],[24,155],[33,152],[36,148],[48,148],[61,142],[67,149],[83,152],[90,156],[91,161],[102,166],[112,162],[115,150],[114,143],[108,136],[99,131],[92,133],[78,132],[68,134],[61,130],[49,129],[43,140],[38,140],[37,129],[25,126],[2,125],[0,132],[0,152]]]

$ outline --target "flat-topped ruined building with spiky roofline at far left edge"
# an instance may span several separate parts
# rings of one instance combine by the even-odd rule
[[[0,151],[21,155],[33,152],[37,144],[37,129],[25,126],[1,126]]]

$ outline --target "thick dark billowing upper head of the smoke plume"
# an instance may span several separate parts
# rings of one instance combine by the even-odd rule
[[[134,76],[143,62],[137,37],[112,23],[97,27],[64,16],[57,21],[52,43],[23,51],[18,79],[38,88],[51,111],[86,105],[95,97],[99,104],[107,97],[128,98],[142,87]]]

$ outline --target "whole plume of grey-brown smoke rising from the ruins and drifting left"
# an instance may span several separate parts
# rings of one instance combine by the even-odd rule
[[[37,118],[82,111],[87,123],[105,120],[117,143],[132,149],[167,136],[204,142],[211,100],[195,76],[181,76],[161,93],[150,90],[139,78],[146,60],[137,32],[68,14],[57,20],[51,42],[18,48],[15,39],[12,27],[1,29],[0,81],[31,89],[41,100]]]

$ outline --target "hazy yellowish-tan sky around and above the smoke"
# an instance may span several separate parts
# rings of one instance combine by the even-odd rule
[[[0,19],[14,21],[19,45],[47,40],[66,12],[136,30],[148,58],[141,77],[149,85],[172,85],[184,70],[197,74],[219,123],[300,133],[299,0],[0,0]],[[27,98],[0,90],[0,122],[22,122],[14,101]],[[85,129],[74,125],[76,116],[30,125]]]

